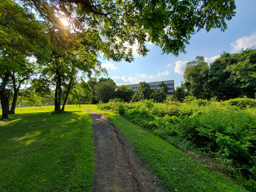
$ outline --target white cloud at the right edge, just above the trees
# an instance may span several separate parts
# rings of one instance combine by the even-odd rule
[[[250,36],[243,36],[241,38],[236,39],[231,43],[231,52],[239,52],[242,48],[252,48],[256,46],[256,33]]]

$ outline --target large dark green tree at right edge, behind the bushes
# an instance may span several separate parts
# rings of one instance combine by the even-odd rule
[[[218,99],[254,98],[256,92],[256,50],[240,53],[223,53],[210,64],[207,94]]]

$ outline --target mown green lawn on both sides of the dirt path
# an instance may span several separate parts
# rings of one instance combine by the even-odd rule
[[[104,113],[169,191],[246,191],[168,142],[96,105],[17,108],[0,124],[0,191],[91,191],[93,132],[84,108]],[[176,189],[176,190],[175,190]]]

